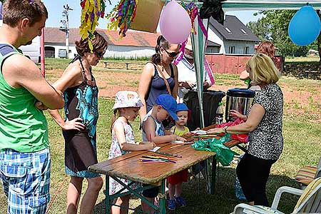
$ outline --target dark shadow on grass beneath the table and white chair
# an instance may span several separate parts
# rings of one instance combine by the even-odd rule
[[[234,168],[218,168],[218,175],[215,185],[215,194],[208,195],[205,193],[205,180],[198,178],[190,180],[183,186],[183,197],[188,205],[185,208],[178,208],[175,214],[207,214],[207,213],[232,213],[235,205],[245,203],[235,197],[235,169]],[[283,185],[300,188],[300,186],[285,175],[270,175],[267,182],[267,198],[272,204],[277,188]],[[297,203],[298,196],[285,193],[282,195],[278,209],[283,213],[291,213]],[[140,209],[138,205],[136,210]],[[95,207],[96,214],[105,213],[105,200],[98,203]],[[133,211],[129,211],[133,213]],[[134,213],[139,213],[135,211]],[[169,212],[167,212],[169,213]]]

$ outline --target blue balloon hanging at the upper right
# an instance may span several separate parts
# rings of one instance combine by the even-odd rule
[[[307,46],[317,39],[320,34],[321,22],[312,6],[302,8],[292,17],[288,33],[290,39],[298,46]]]

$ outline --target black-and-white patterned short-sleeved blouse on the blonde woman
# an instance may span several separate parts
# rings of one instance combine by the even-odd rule
[[[248,153],[266,160],[277,160],[283,149],[283,93],[280,86],[273,83],[263,87],[255,94],[252,105],[255,103],[265,108],[265,115],[258,127],[248,134]]]

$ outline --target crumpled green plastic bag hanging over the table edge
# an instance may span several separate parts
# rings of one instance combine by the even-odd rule
[[[231,161],[233,161],[233,157],[238,155],[238,153],[235,153],[230,148],[223,145],[223,143],[227,143],[231,140],[232,138],[230,137],[230,134],[227,133],[220,139],[211,138],[195,141],[192,147],[195,148],[195,150],[215,152],[216,160],[218,160],[222,165],[227,166],[230,165]]]

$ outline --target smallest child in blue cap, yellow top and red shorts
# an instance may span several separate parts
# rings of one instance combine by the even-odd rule
[[[176,109],[176,115],[178,120],[175,121],[175,126],[170,128],[170,131],[178,136],[183,136],[185,133],[189,133],[190,130],[185,126],[188,121],[189,109],[184,103],[178,103]],[[182,170],[174,175],[170,175],[167,178],[168,181],[168,194],[169,200],[168,210],[175,210],[176,203],[180,207],[185,207],[186,202],[181,195],[183,190],[183,182],[188,181],[188,170]]]

